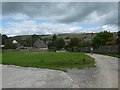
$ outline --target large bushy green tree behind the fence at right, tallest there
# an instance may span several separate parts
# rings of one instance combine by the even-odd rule
[[[106,45],[106,43],[113,37],[113,34],[107,31],[100,32],[93,37],[93,46],[99,47],[101,45]]]

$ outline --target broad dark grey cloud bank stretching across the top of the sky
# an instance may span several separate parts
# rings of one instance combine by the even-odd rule
[[[55,19],[60,23],[84,22],[96,12],[98,16],[107,15],[99,23],[116,24],[117,8],[117,2],[3,2],[2,5],[3,16],[21,13],[31,18]]]

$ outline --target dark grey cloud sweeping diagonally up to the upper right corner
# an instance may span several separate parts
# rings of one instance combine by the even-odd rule
[[[82,6],[80,4],[83,4]],[[103,23],[115,23],[115,20],[117,19],[116,14],[117,14],[117,3],[80,3],[76,7],[75,5],[75,12],[73,14],[64,17],[64,19],[61,19],[61,22],[66,22],[66,23],[71,23],[71,22],[76,22],[76,21],[84,21],[85,18],[87,17],[88,19],[90,18],[89,15],[93,12],[96,12],[98,16],[103,16],[107,15],[110,12],[113,12],[112,15],[109,14],[107,15],[108,17],[104,18]],[[111,22],[109,22],[111,21]]]

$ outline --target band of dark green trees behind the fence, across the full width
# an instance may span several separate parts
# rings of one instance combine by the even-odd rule
[[[35,35],[35,34],[26,39],[11,38],[11,37],[7,37],[6,35],[2,35],[2,45],[4,45],[5,49],[15,49],[17,47],[15,44],[12,43],[13,39],[15,39],[21,45],[25,47],[31,47],[38,38],[43,40],[48,45],[49,50],[79,48],[85,46],[99,47],[102,45],[120,44],[120,31],[118,31],[116,35],[108,31],[97,33],[95,36],[93,35],[93,33],[91,33],[90,38],[86,37],[88,41],[85,41],[84,38],[68,37],[68,36],[66,36],[66,38],[58,38],[57,35],[53,35],[52,38],[44,38],[44,39],[42,39],[39,35]],[[66,39],[68,39],[69,42],[66,43],[65,42]]]

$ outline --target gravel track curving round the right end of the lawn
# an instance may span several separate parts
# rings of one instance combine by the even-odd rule
[[[110,56],[87,54],[96,60],[96,68],[68,71],[80,88],[118,88],[118,59]]]

